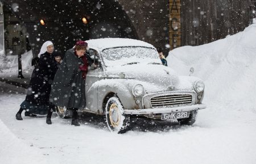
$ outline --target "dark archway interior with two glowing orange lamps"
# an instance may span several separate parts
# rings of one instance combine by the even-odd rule
[[[42,44],[51,40],[63,54],[72,48],[76,40],[103,37],[127,37],[138,39],[137,32],[127,14],[115,0],[0,0],[26,28],[26,36],[37,56]],[[88,23],[83,23],[87,18]],[[44,24],[40,24],[40,20]]]

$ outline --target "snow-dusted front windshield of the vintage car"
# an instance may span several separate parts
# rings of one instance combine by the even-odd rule
[[[138,64],[142,62],[160,64],[158,52],[146,47],[118,47],[102,51],[105,66]]]

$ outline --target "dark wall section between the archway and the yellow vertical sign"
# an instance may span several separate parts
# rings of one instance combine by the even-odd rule
[[[118,0],[126,11],[140,40],[169,51],[169,10],[168,0]],[[167,46],[166,46],[167,45]]]

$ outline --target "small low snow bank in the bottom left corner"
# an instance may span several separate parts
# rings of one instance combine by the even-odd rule
[[[0,120],[0,163],[47,163],[38,148],[24,144]]]

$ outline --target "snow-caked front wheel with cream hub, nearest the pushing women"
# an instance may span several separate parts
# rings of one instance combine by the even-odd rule
[[[123,113],[123,106],[117,96],[109,98],[105,108],[106,123],[111,132],[125,133],[130,125],[130,116]]]

